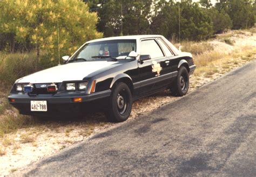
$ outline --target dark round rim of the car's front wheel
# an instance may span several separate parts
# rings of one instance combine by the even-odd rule
[[[119,114],[124,115],[128,107],[128,94],[123,89],[117,94],[117,109]]]

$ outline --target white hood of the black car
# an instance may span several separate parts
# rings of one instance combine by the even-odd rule
[[[77,62],[51,67],[16,80],[16,83],[61,83],[69,80],[83,80],[84,77],[117,62]]]

